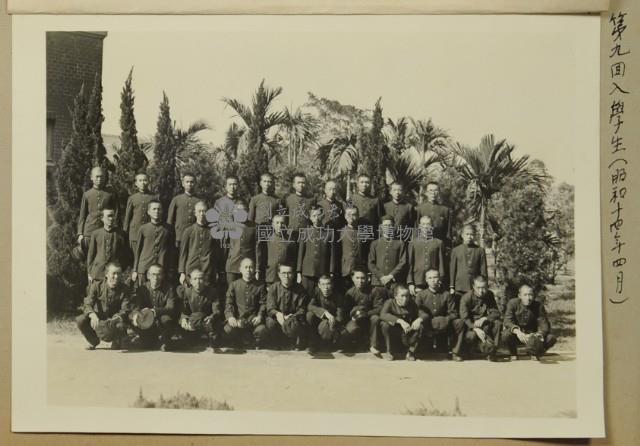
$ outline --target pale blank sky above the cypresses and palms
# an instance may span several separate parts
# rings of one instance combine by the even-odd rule
[[[219,144],[238,119],[221,98],[249,103],[264,78],[284,89],[276,109],[304,104],[308,92],[368,109],[381,97],[385,119],[431,117],[469,145],[493,133],[515,144],[517,155],[543,160],[557,180],[573,182],[567,154],[579,149],[577,34],[530,22],[429,28],[433,21],[403,20],[385,27],[379,18],[355,25],[319,18],[288,27],[265,18],[235,28],[111,30],[103,132],[120,132],[120,91],[132,66],[144,138],[155,132],[165,91],[179,126],[204,119],[213,129],[201,138]]]

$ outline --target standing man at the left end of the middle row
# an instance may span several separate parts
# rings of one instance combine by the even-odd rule
[[[102,228],[96,229],[89,239],[87,274],[89,283],[102,280],[105,267],[116,262],[123,265],[127,259],[127,242],[124,233],[116,226],[116,211],[102,209]]]

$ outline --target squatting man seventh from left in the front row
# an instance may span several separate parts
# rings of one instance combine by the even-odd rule
[[[389,298],[388,290],[377,287],[374,292],[368,283],[367,273],[361,267],[353,270],[351,281],[353,286],[344,296],[344,312],[349,318],[343,333],[345,344],[357,343],[363,333],[368,333],[370,351],[379,355],[380,310]]]

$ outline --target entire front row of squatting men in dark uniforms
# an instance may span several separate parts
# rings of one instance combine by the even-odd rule
[[[89,349],[101,341],[119,349],[127,333],[134,333],[134,345],[163,351],[205,337],[214,352],[223,346],[313,352],[364,345],[387,360],[414,361],[422,345],[439,346],[455,361],[474,352],[493,361],[501,343],[511,359],[517,359],[519,345],[538,359],[555,343],[544,305],[527,285],[501,311],[483,276],[474,278],[458,301],[441,288],[435,269],[425,273],[427,287],[415,296],[401,283],[372,287],[358,268],[344,293],[330,276],[322,276],[308,293],[286,263],[278,265],[278,280],[268,287],[256,280],[253,259],[244,258],[240,271],[222,294],[198,269],[174,289],[162,266],[152,265],[148,280],[132,292],[121,267],[110,263],[105,278],[89,287],[76,322]]]

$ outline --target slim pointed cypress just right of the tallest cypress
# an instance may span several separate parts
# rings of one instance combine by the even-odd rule
[[[176,145],[171,123],[169,98],[162,92],[158,125],[154,139],[153,168],[151,175],[155,180],[156,192],[160,196],[164,209],[168,209],[177,184]]]

